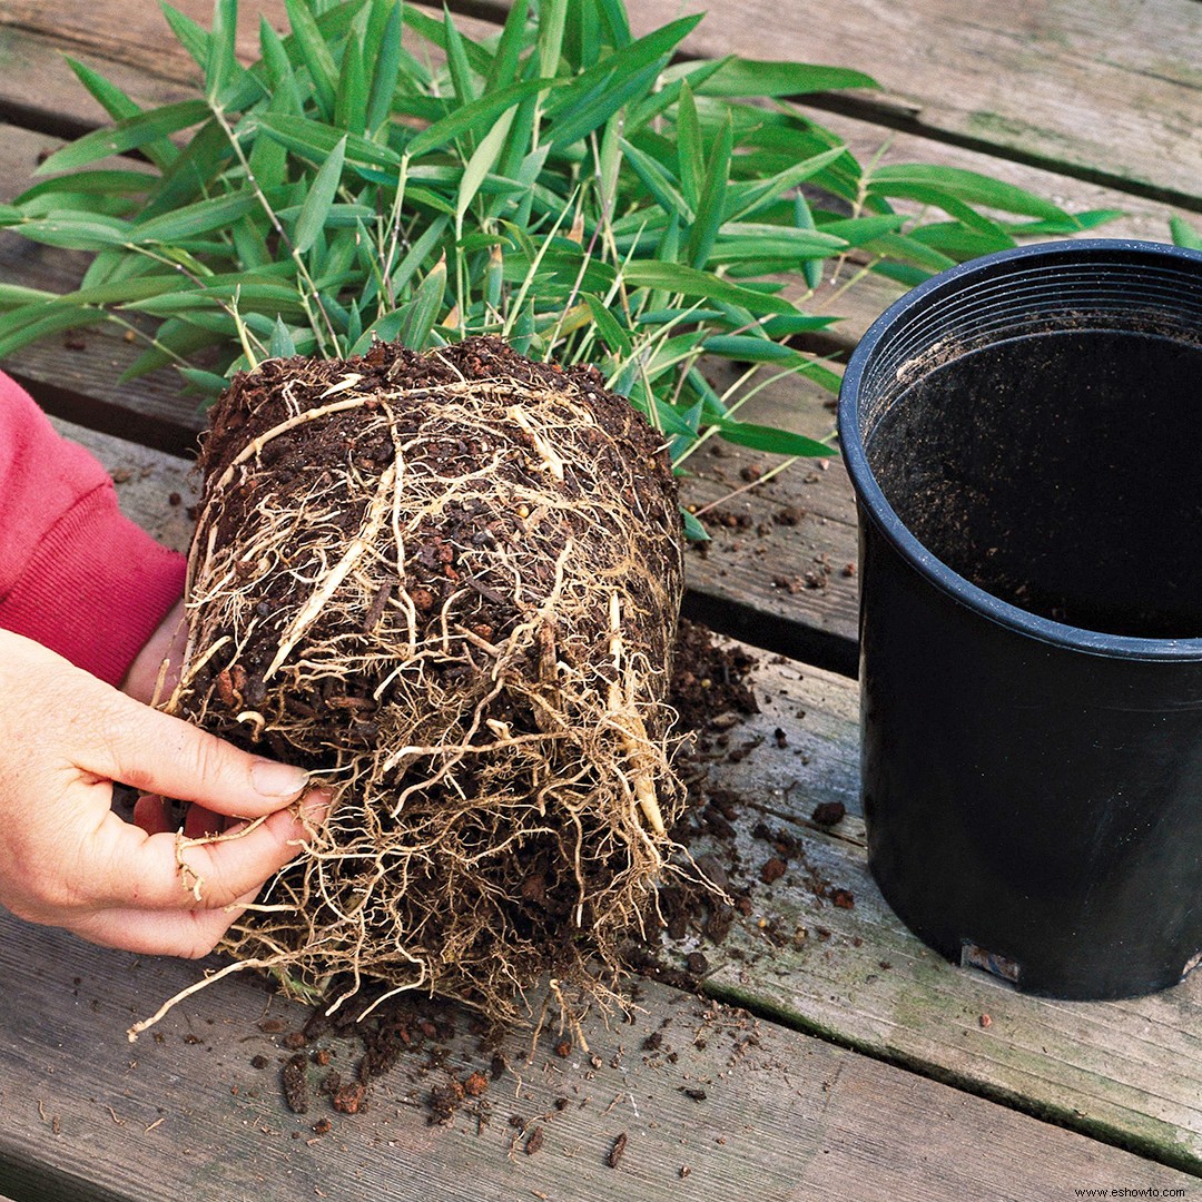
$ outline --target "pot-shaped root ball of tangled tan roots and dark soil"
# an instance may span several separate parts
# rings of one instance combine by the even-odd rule
[[[333,977],[335,1005],[365,980],[498,1017],[546,972],[603,989],[683,792],[655,433],[594,375],[475,339],[268,362],[203,465],[171,708],[334,792],[230,950]]]

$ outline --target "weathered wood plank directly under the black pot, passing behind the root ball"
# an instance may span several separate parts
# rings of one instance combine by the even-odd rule
[[[182,507],[165,507],[162,498],[179,490],[186,504],[184,464],[90,432],[82,439],[121,477],[126,511],[183,546]],[[750,898],[750,912],[720,947],[700,936],[680,945],[703,950],[713,965],[706,989],[1202,1172],[1202,977],[1133,1001],[1057,1002],[928,952],[892,915],[867,870],[856,686],[780,656],[760,660],[754,688],[761,713],[710,736],[709,758],[694,781],[702,799],[730,807],[734,838],[709,850],[732,888]],[[809,820],[820,802],[847,810],[833,831]],[[770,885],[762,870],[780,852],[755,834],[760,823],[798,840],[785,875]],[[707,845],[698,839],[692,850],[702,853]],[[852,908],[832,904],[831,888],[846,891]],[[987,1028],[982,1014],[990,1016]]]

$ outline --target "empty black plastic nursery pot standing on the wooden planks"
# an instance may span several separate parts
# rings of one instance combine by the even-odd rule
[[[859,344],[873,873],[944,956],[1119,998],[1202,953],[1202,255],[927,281]]]

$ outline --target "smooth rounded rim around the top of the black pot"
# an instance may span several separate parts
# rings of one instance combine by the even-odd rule
[[[876,482],[868,465],[868,454],[859,429],[859,393],[862,377],[876,344],[910,310],[923,304],[933,294],[959,291],[975,276],[992,275],[998,264],[1014,261],[1024,267],[1035,266],[1040,257],[1052,267],[1061,261],[1105,261],[1107,256],[1127,257],[1132,254],[1148,255],[1166,262],[1196,264],[1202,282],[1202,252],[1174,246],[1171,243],[1133,238],[1082,238],[1034,243],[1008,250],[995,251],[968,260],[924,280],[899,297],[869,326],[852,352],[844,371],[839,389],[838,427],[839,447],[847,475],[862,514],[867,516],[903,559],[922,576],[959,605],[1017,633],[1042,643],[1069,648],[1091,655],[1127,660],[1202,660],[1202,636],[1196,638],[1141,638],[1132,635],[1108,635],[1087,630],[1069,623],[1055,621],[1022,609],[1008,601],[974,584],[918,541],[889,505],[885,492]]]

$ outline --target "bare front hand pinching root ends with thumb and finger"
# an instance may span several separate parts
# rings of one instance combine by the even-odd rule
[[[0,903],[129,951],[198,957],[325,819],[305,774],[0,631]],[[124,822],[113,783],[249,820],[209,845]],[[262,819],[260,825],[254,820]]]

